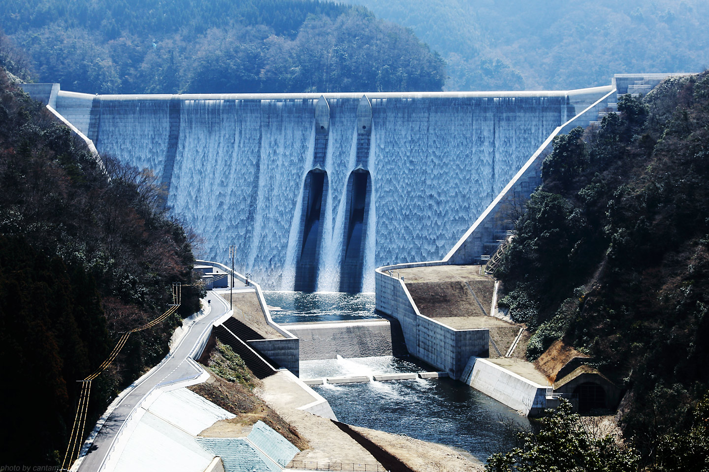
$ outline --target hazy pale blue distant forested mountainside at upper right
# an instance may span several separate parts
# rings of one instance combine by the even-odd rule
[[[347,0],[412,28],[445,59],[445,90],[556,90],[613,74],[709,65],[703,0]]]

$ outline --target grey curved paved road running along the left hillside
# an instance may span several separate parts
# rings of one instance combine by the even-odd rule
[[[103,427],[101,427],[99,434],[96,435],[96,439],[91,444],[84,460],[79,464],[80,472],[99,471],[104,464],[108,451],[111,450],[111,444],[116,439],[116,434],[121,429],[121,425],[133,412],[135,406],[145,398],[147,393],[150,393],[153,387],[172,384],[201,374],[201,371],[188,362],[187,358],[194,346],[199,342],[204,329],[228,311],[226,301],[215,292],[207,292],[207,298],[212,301],[211,313],[193,323],[170,355],[168,355],[167,361],[150,372],[150,375],[140,381],[140,384],[135,386],[133,391],[130,391],[121,400],[121,403],[118,403],[111,415],[106,419]]]

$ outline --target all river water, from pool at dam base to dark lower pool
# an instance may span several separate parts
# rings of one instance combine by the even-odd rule
[[[266,292],[277,323],[378,318],[374,294]],[[301,361],[301,379],[373,376],[432,371],[411,357],[359,357]],[[415,379],[313,386],[337,419],[467,451],[481,461],[513,446],[513,433],[529,427],[527,418],[459,381]]]

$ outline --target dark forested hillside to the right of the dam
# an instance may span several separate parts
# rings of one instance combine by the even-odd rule
[[[627,390],[644,463],[707,470],[709,72],[618,110],[554,139],[496,271],[501,304],[534,330],[528,358],[562,339]]]

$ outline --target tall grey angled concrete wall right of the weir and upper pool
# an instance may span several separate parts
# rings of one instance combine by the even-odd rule
[[[427,265],[438,265],[427,263]],[[419,313],[406,284],[376,270],[376,309],[393,316],[401,323],[408,352],[458,379],[471,356],[487,355],[487,329],[455,330]]]

